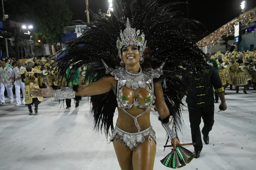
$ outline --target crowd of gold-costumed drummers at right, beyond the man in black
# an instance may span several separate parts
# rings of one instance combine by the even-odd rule
[[[218,51],[211,56],[209,62],[218,70],[224,88],[229,85],[230,90],[233,90],[235,86],[236,93],[239,93],[239,87],[243,87],[244,94],[247,94],[246,90],[250,87],[256,90],[256,51],[225,54]]]

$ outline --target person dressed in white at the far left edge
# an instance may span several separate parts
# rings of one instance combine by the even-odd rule
[[[8,59],[4,59],[1,63],[1,71],[0,75],[0,104],[5,103],[4,91],[6,88],[8,98],[10,103],[13,103],[13,93],[12,93],[12,68],[6,65]]]

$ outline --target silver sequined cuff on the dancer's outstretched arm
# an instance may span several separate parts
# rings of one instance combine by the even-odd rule
[[[72,86],[52,91],[52,97],[55,100],[72,99],[72,98],[75,98],[75,96],[76,96],[76,91],[74,91]]]

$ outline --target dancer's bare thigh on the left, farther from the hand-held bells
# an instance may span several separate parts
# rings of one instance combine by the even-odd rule
[[[132,151],[127,146],[124,146],[122,144],[122,142],[120,141],[120,136],[118,141],[113,139],[113,145],[121,170],[133,170]]]

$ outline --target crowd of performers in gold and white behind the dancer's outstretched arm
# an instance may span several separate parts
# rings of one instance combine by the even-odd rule
[[[16,94],[15,106],[26,105],[29,109],[29,115],[33,114],[32,105],[35,105],[34,114],[38,114],[38,105],[44,99],[43,97],[36,97],[30,93],[32,88],[46,88],[45,82],[47,82],[52,88],[63,88],[72,86],[74,84],[87,85],[90,83],[91,78],[85,79],[87,74],[87,67],[83,66],[76,71],[76,75],[72,77],[71,84],[65,83],[68,79],[69,71],[72,68],[67,69],[66,74],[60,77],[58,72],[53,69],[52,65],[54,60],[47,60],[42,57],[39,62],[33,62],[32,59],[19,59],[14,65],[14,68],[8,65],[7,59],[1,61],[0,67],[0,105],[5,104],[5,90],[7,91],[10,104],[14,102],[14,93]],[[61,82],[60,82],[61,80]],[[14,89],[14,91],[13,91]],[[20,97],[22,94],[22,97]],[[22,98],[22,101],[21,101]],[[66,99],[67,109],[70,109],[71,99]],[[79,106],[79,101],[76,102],[76,107]]]

